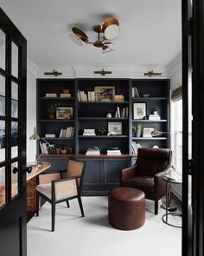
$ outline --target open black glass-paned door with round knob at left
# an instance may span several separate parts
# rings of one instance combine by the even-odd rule
[[[0,8],[0,254],[26,256],[27,42]]]

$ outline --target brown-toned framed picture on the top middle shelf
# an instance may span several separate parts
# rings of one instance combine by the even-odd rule
[[[94,86],[97,102],[113,102],[115,98],[115,86]]]

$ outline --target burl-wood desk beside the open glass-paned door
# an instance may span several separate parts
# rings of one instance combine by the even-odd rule
[[[29,166],[29,165],[28,165]],[[40,167],[32,166],[32,172],[27,174],[27,211],[36,211],[36,176],[51,167],[49,162],[41,162]]]

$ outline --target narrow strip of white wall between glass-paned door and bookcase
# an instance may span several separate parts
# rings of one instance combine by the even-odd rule
[[[28,58],[27,65],[27,162],[35,161],[36,141],[30,141],[36,127],[36,76],[37,67]]]

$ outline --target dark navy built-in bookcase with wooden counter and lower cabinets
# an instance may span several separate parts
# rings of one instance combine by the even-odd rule
[[[96,87],[109,87],[111,92],[114,89],[114,94],[118,95],[119,101],[116,102],[112,97],[108,99],[109,101],[100,101],[95,96],[95,90],[99,89]],[[132,94],[135,91],[134,88],[137,88],[139,97]],[[70,96],[60,97],[63,90],[68,90]],[[83,101],[79,97],[80,91],[84,95]],[[56,96],[46,96],[49,94]],[[108,92],[109,96],[110,92]],[[137,102],[144,103],[146,106],[143,119],[134,118],[134,106]],[[48,108],[53,105],[62,108],[61,113],[58,113],[60,119],[56,114],[52,116],[53,119],[50,119]],[[72,115],[66,112],[64,116],[63,108],[65,112],[72,110]],[[154,108],[157,110],[158,120],[156,120],[156,115],[152,117],[154,120],[149,119]],[[137,137],[132,129],[137,124],[140,124],[142,128],[154,128],[165,134],[157,137],[144,137],[141,133]],[[109,128],[114,125],[120,130],[119,134],[108,135]],[[61,137],[61,130],[69,127],[74,128],[73,136]],[[90,131],[93,129],[94,135],[83,135],[85,129]],[[136,156],[132,154],[132,142],[142,147],[169,148],[169,80],[37,79],[37,133],[41,135],[41,138],[55,145],[55,153],[61,153],[61,150],[58,150],[59,147],[60,149],[67,148],[64,154],[41,155],[42,161],[51,162],[50,171],[66,169],[70,157],[84,161],[86,170],[83,194],[105,194],[105,191],[112,187],[118,187],[119,170],[131,166],[134,162],[131,161]],[[54,134],[55,137],[46,136],[50,134]],[[67,135],[67,132],[62,136],[64,135]],[[100,155],[86,155],[87,148],[95,147],[99,148]],[[118,148],[121,154],[107,155],[110,147]],[[39,143],[37,152],[41,153]]]

